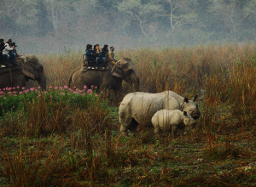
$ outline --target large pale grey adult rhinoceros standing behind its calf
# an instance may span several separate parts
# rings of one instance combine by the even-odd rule
[[[197,97],[195,95],[193,100],[189,100],[172,91],[159,94],[143,92],[126,94],[119,106],[120,132],[127,133],[129,129],[135,133],[138,124],[152,127],[152,116],[162,109],[186,111],[194,119],[198,119],[201,113],[195,105]]]

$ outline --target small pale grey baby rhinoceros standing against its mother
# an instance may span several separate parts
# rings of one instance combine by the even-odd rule
[[[157,111],[151,119],[154,126],[154,133],[172,131],[172,138],[176,139],[177,129],[180,129],[180,136],[183,137],[185,127],[195,127],[195,119],[186,111],[179,110],[160,110]]]

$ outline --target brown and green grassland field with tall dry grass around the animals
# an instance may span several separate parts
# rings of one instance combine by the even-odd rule
[[[84,52],[38,54],[48,89],[0,93],[0,185],[256,186],[255,52],[227,43],[116,53],[137,66],[140,91],[199,95],[201,118],[184,139],[141,126],[123,136],[106,94],[67,88]]]

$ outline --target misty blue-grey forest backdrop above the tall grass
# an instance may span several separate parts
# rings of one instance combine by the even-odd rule
[[[0,0],[0,37],[20,54],[255,42],[255,29],[256,0]]]

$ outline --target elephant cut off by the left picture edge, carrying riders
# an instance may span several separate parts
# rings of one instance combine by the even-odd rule
[[[31,80],[38,81],[42,89],[46,89],[46,76],[44,66],[39,59],[33,55],[25,55],[17,58],[19,66],[0,69],[0,88],[25,87],[26,82]]]

